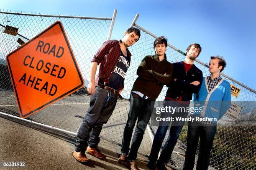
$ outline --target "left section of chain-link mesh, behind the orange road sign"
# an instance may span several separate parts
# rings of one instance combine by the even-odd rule
[[[76,57],[85,86],[90,77],[90,60],[98,48],[107,40],[111,18],[84,18],[72,16],[41,15],[6,12],[0,13],[0,110],[17,115],[18,107],[13,93],[13,87],[6,65],[5,57],[15,50],[19,44],[18,38],[27,42],[56,21],[61,21],[69,43]],[[6,25],[19,28],[18,35],[3,33]],[[68,83],[68,82],[67,82]],[[85,91],[79,90],[79,92]],[[27,119],[40,122],[64,130],[76,132],[84,113],[87,111],[89,96],[70,95],[59,102],[46,107]],[[85,94],[85,92],[82,92]],[[34,99],[37,100],[37,99]]]

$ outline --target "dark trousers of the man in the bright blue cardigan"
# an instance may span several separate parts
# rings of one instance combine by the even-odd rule
[[[197,170],[207,170],[210,163],[210,152],[216,133],[216,124],[202,125],[198,121],[189,122],[187,130],[187,151],[183,170],[193,170],[198,140],[199,155],[197,159]]]

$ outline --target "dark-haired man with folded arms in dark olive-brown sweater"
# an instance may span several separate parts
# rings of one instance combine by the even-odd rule
[[[173,66],[166,60],[167,39],[164,36],[154,41],[155,55],[147,55],[138,66],[138,78],[134,82],[130,96],[130,111],[123,132],[122,155],[118,163],[125,165],[131,170],[138,170],[135,164],[138,148],[141,145],[146,126],[150,120],[154,102],[164,85],[172,80]],[[133,135],[131,151],[129,145],[138,119],[136,130]]]

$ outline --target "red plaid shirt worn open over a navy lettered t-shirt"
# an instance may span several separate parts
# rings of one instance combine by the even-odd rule
[[[121,48],[119,42],[121,42],[121,40],[108,40],[104,42],[93,56],[91,62],[97,62],[98,65],[100,64],[99,75],[97,76],[95,83],[98,84],[99,78],[103,80],[104,83],[109,83],[109,78],[120,58]],[[126,49],[126,51],[129,60],[131,60],[131,52],[128,49]],[[121,89],[123,89],[123,85],[119,88],[119,90]]]

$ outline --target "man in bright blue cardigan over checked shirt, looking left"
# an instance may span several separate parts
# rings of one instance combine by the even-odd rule
[[[203,78],[199,92],[193,95],[194,110],[199,111],[191,113],[191,117],[195,119],[190,121],[188,126],[187,151],[183,170],[193,170],[199,138],[200,147],[196,169],[208,169],[217,121],[228,110],[231,102],[230,84],[220,77],[220,72],[225,66],[226,61],[222,57],[212,56],[209,62],[211,74]]]

